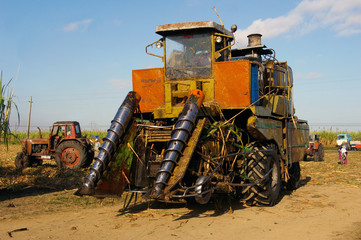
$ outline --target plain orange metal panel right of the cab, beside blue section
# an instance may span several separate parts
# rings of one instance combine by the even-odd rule
[[[222,109],[242,108],[250,105],[250,71],[248,60],[214,64],[214,98]]]

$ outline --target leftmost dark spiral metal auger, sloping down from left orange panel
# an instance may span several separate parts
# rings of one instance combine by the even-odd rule
[[[95,158],[90,173],[84,178],[83,186],[75,193],[76,195],[93,195],[95,187],[107,168],[110,160],[114,157],[120,144],[121,137],[124,135],[133,113],[137,109],[140,101],[140,95],[136,92],[129,92],[124,102],[119,107],[111,122],[107,135],[103,138],[103,145],[99,147],[98,156]]]

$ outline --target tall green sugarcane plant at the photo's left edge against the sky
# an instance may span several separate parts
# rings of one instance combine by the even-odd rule
[[[18,122],[20,122],[20,115],[17,105],[13,102],[15,84],[12,89],[9,89],[10,79],[3,85],[3,74],[0,74],[0,143],[8,145],[10,137],[12,136],[10,130],[10,114],[11,108],[14,106],[17,112]]]

